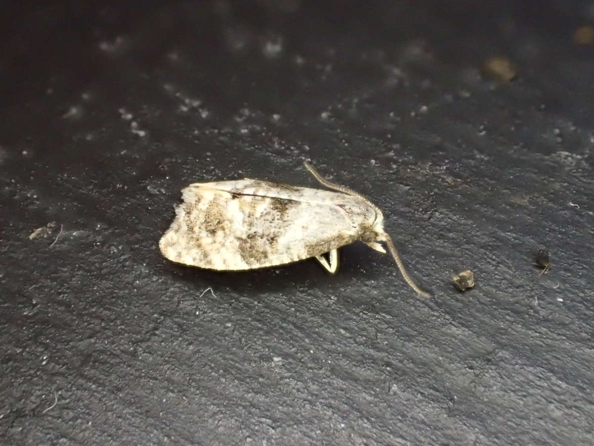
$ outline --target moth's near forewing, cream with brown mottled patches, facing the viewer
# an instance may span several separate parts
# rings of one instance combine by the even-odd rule
[[[211,186],[211,184],[208,184]],[[241,271],[307,259],[361,235],[340,206],[231,193],[193,184],[159,242],[173,262]]]

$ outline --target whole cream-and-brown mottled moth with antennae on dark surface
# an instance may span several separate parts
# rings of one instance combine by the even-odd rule
[[[381,253],[386,243],[406,283],[423,297],[384,231],[380,209],[361,194],[305,168],[334,191],[244,180],[194,183],[159,241],[167,259],[217,271],[245,271],[315,257],[331,274],[338,249],[361,240]],[[324,256],[327,254],[327,258]]]

